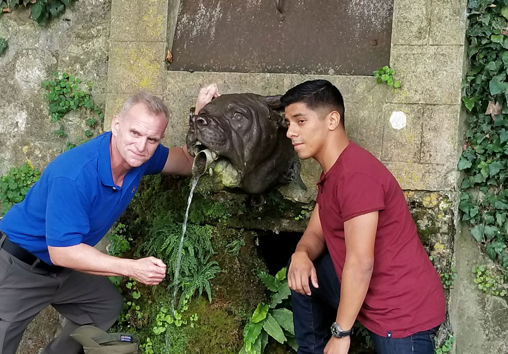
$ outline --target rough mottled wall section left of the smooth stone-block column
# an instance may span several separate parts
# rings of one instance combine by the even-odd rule
[[[90,80],[93,99],[104,110],[110,18],[107,0],[78,1],[44,26],[27,9],[0,15],[0,38],[9,42],[0,56],[0,175],[26,160],[43,169],[63,150],[65,140],[53,134],[57,125],[48,118],[41,87],[54,72]],[[86,117],[84,110],[66,116],[72,122]],[[62,323],[52,308],[43,311],[25,332],[18,353],[39,352]]]

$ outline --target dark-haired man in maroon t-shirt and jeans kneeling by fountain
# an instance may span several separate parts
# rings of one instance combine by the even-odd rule
[[[298,156],[323,169],[288,270],[298,353],[346,354],[358,319],[378,354],[433,354],[444,293],[399,184],[347,138],[330,82],[299,84],[281,102]]]

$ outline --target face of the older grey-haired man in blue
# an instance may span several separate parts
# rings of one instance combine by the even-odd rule
[[[116,148],[125,162],[138,167],[152,157],[168,121],[164,113],[153,114],[144,104],[138,103],[122,116],[115,116],[111,123],[111,132],[115,137]]]

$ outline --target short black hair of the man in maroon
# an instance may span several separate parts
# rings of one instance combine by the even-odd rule
[[[340,114],[340,123],[344,127],[344,100],[337,87],[328,80],[310,80],[302,82],[280,98],[283,107],[293,103],[305,103],[310,109],[330,108]]]

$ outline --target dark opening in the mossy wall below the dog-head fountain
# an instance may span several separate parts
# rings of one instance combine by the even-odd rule
[[[266,231],[260,232],[258,235],[258,249],[265,260],[268,272],[272,275],[288,265],[288,261],[302,237],[301,232],[275,234],[272,231]]]

